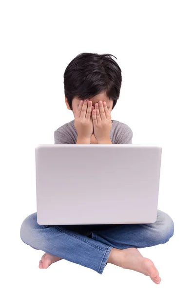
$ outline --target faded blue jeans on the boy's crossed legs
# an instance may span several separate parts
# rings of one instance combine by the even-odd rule
[[[174,222],[164,212],[152,224],[59,225],[37,223],[37,213],[22,223],[20,237],[34,249],[103,273],[112,248],[144,248],[167,242]]]

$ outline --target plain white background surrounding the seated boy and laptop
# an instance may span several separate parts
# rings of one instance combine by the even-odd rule
[[[2,291],[176,291],[194,286],[195,2],[1,1],[0,198]],[[39,270],[43,252],[20,240],[36,212],[35,146],[74,119],[63,73],[78,54],[110,53],[122,70],[112,119],[132,128],[133,144],[162,145],[158,208],[175,235],[140,250],[162,282],[107,265],[102,275],[61,260]],[[113,173],[113,179],[115,175]]]

